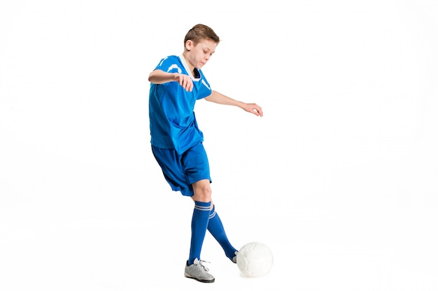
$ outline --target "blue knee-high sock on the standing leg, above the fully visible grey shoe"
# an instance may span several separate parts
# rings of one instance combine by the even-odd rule
[[[188,264],[193,264],[195,258],[201,260],[201,249],[209,224],[211,202],[195,201],[192,216],[192,239],[190,240],[190,254]]]

